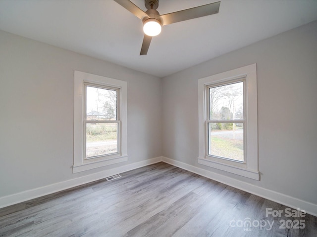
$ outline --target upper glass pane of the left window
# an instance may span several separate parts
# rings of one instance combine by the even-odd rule
[[[117,91],[87,86],[87,120],[117,120]]]

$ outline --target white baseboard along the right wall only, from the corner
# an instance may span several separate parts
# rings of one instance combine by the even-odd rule
[[[183,163],[181,161],[177,161],[174,159],[162,157],[162,161],[174,166],[177,166],[179,168],[188,170],[190,172],[193,172],[195,174],[199,174],[201,176],[207,177],[209,179],[215,180],[217,182],[232,186],[234,188],[246,191],[248,193],[264,197],[268,200],[275,201],[277,203],[283,204],[285,206],[292,207],[294,209],[300,208],[301,210],[305,210],[308,214],[317,216],[317,204],[298,199],[295,197],[290,197],[285,194],[281,194],[272,190],[264,189],[259,186],[255,186],[243,181],[239,181],[233,178],[229,178],[227,176],[217,174],[202,168],[195,167],[193,165],[189,165],[186,163]]]

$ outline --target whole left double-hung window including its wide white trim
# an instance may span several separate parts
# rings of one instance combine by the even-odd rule
[[[74,173],[127,160],[126,117],[126,81],[75,71]]]

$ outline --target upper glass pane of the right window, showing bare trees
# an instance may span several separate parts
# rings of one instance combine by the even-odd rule
[[[211,119],[243,119],[243,81],[212,87],[210,93]]]

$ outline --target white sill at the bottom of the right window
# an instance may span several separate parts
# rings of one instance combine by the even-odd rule
[[[260,180],[259,171],[236,167],[229,164],[224,164],[224,163],[220,163],[220,162],[216,162],[213,160],[200,158],[200,157],[198,158],[198,163],[212,167],[212,168],[220,169],[229,173],[244,176],[250,179]]]

